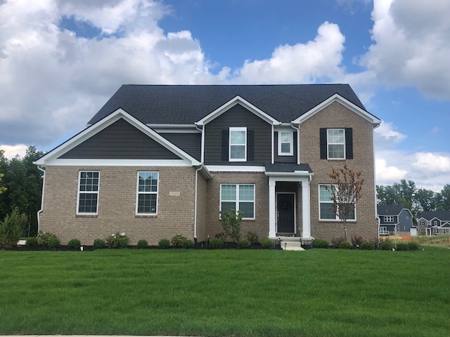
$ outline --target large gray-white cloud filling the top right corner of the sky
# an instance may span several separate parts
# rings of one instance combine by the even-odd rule
[[[361,58],[380,84],[450,99],[450,1],[374,0],[372,39]]]

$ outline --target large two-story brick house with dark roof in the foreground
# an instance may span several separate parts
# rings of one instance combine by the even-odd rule
[[[332,167],[362,171],[347,237],[376,237],[373,128],[346,84],[124,85],[88,127],[35,164],[45,170],[39,229],[92,244],[175,234],[206,241],[219,211],[243,211],[262,237],[344,235]]]

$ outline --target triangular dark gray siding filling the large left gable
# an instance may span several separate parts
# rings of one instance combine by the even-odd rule
[[[119,119],[60,159],[179,159],[160,143]]]

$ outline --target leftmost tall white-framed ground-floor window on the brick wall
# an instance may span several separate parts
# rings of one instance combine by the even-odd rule
[[[100,172],[79,171],[77,214],[97,214]]]

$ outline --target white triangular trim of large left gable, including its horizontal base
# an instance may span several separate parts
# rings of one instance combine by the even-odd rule
[[[58,159],[60,156],[65,154],[66,152],[69,152],[73,148],[77,147],[78,145],[82,144],[85,140],[88,140],[92,136],[96,135],[96,133],[102,131],[105,128],[108,128],[108,126],[112,125],[119,119],[124,119],[129,124],[134,126],[136,129],[144,133],[149,138],[155,140],[155,142],[159,143],[163,147],[167,148],[170,152],[176,154],[180,159],[173,160],[174,161],[184,161],[185,165],[191,165],[191,166],[198,166],[200,165],[200,161],[197,159],[191,157],[191,155],[187,154],[183,150],[181,150],[179,147],[176,147],[176,145],[170,143],[167,139],[160,136],[157,132],[153,131],[153,129],[146,126],[146,124],[143,124],[138,119],[131,116],[131,114],[125,112],[122,109],[117,109],[112,114],[109,114],[107,117],[101,119],[100,121],[96,122],[95,124],[89,126],[88,128],[85,128],[82,132],[78,133],[77,135],[73,136],[69,140],[67,140],[65,143],[61,144],[60,146],[56,147],[55,149],[51,150],[47,154],[45,154],[43,157],[39,158],[37,161],[34,162],[34,164],[37,165],[61,165],[65,164],[68,165],[70,163],[72,164],[79,164],[79,159]],[[159,162],[162,164],[162,166],[167,166],[169,164],[167,160],[157,161],[152,160],[153,165],[157,165]],[[88,161],[86,161],[88,162]],[[93,160],[89,160],[90,163],[94,162]],[[141,164],[145,164],[145,160],[139,161]],[[105,163],[115,163],[116,165],[120,165],[122,163],[121,159],[110,159],[105,161]],[[175,164],[175,163],[173,163]],[[181,163],[172,165],[172,166],[180,166]],[[127,165],[130,165],[130,161],[127,161]],[[169,164],[170,165],[170,164]]]

